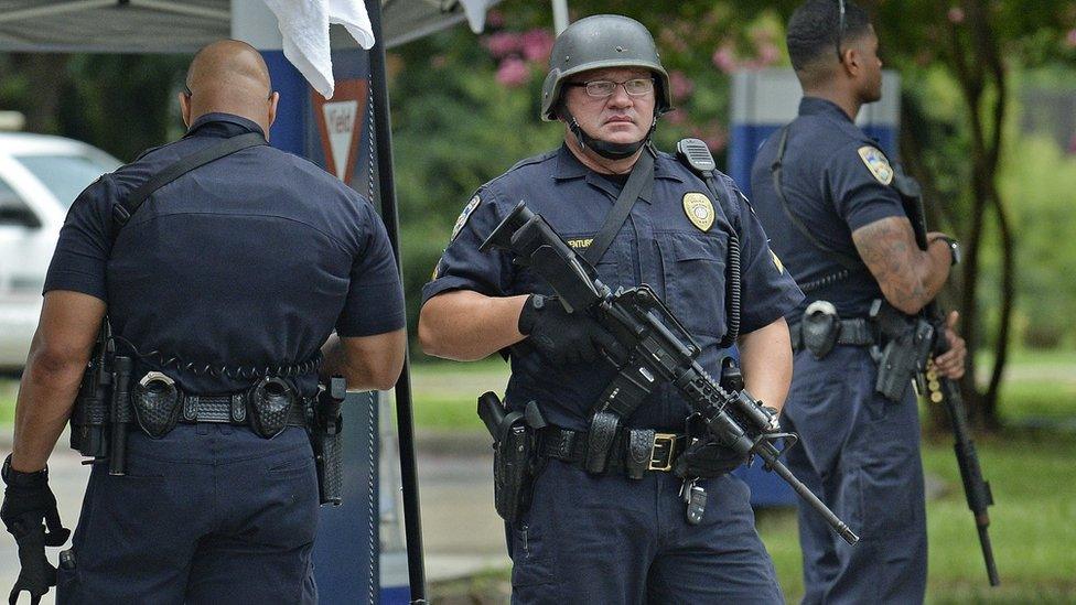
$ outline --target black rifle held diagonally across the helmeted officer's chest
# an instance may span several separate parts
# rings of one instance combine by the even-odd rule
[[[849,544],[859,538],[778,460],[776,418],[745,391],[729,392],[696,360],[700,347],[647,285],[613,292],[540,215],[520,202],[482,244],[503,248],[552,288],[569,312],[590,313],[630,350],[613,360],[621,372],[596,408],[598,414],[635,404],[661,383],[672,385],[692,418],[718,443],[744,457],[756,455],[804,498]]]

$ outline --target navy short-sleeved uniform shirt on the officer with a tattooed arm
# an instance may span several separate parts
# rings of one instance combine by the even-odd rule
[[[842,317],[864,317],[871,301],[882,298],[865,266],[841,281],[817,289],[809,285],[843,267],[815,247],[785,215],[771,172],[779,139],[781,131],[758,150],[751,170],[751,194],[774,251],[807,293],[787,318],[798,321],[807,303],[816,300],[833,303]],[[906,216],[901,196],[886,182],[892,180],[892,168],[875,145],[841,108],[816,97],[804,97],[799,117],[788,127],[781,182],[789,210],[819,241],[853,258],[859,252],[852,231],[882,218]]]

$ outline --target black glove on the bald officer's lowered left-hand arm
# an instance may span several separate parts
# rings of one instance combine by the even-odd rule
[[[19,544],[19,579],[8,603],[14,604],[19,593],[30,593],[30,603],[36,605],[41,596],[56,585],[56,568],[45,558],[45,547],[62,547],[71,530],[60,521],[56,497],[49,489],[49,469],[20,473],[11,468],[11,456],[3,461],[0,473],[8,484],[0,506],[0,520],[14,536]],[[45,531],[47,527],[49,531]]]

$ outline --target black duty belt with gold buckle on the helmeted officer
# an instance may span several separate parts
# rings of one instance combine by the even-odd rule
[[[607,472],[626,471],[630,476],[647,471],[668,473],[687,446],[688,436],[647,429],[623,429],[613,440]],[[539,432],[538,452],[577,466],[587,458],[587,432],[547,426]]]

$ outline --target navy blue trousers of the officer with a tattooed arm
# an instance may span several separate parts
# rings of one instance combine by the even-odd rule
[[[819,360],[795,357],[784,425],[799,433],[788,467],[860,536],[848,545],[799,501],[805,604],[922,603],[926,511],[919,419],[874,392],[865,347],[838,346]]]

